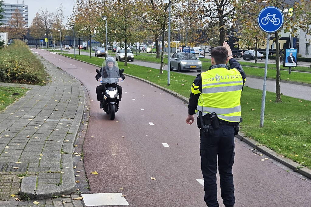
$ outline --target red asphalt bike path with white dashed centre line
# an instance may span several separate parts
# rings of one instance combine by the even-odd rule
[[[196,124],[185,123],[188,108],[180,99],[126,77],[120,84],[119,111],[111,121],[96,98],[98,67],[44,50],[33,51],[79,79],[88,90],[91,117],[83,151],[91,193],[121,192],[130,206],[206,206],[203,186],[196,180],[202,179],[199,130]],[[235,206],[310,206],[309,179],[250,149],[236,139]],[[264,158],[268,160],[261,161]],[[93,171],[98,175],[91,174]],[[219,181],[217,185],[223,206]]]

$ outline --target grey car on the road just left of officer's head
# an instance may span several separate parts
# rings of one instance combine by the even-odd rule
[[[193,53],[179,52],[171,56],[170,70],[196,70],[201,72],[202,62]]]

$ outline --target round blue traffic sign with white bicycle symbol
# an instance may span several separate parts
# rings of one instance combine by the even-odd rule
[[[277,7],[265,7],[258,14],[258,25],[259,27],[267,32],[273,33],[279,30],[284,21],[282,11]]]

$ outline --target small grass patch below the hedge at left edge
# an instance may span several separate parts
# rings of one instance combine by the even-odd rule
[[[3,111],[8,105],[15,103],[26,92],[26,88],[0,87],[0,111]]]

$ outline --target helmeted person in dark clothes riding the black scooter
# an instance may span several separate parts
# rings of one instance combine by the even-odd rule
[[[103,78],[107,78],[108,73],[107,71],[109,70],[109,72],[113,73],[114,71],[117,71],[117,66],[115,65],[115,60],[112,57],[108,57],[106,60],[106,65],[102,68],[100,68],[100,73],[97,73],[95,78],[98,81],[101,77],[101,73],[102,73],[102,69],[104,68],[104,77]],[[120,72],[119,70],[119,74],[120,77],[124,80],[124,75]],[[116,77],[118,76],[118,74],[116,74]],[[108,84],[101,84],[99,86],[96,87],[96,94],[97,94],[97,101],[100,101],[100,108],[104,108],[104,98],[103,98],[103,94],[102,92],[104,92],[105,90],[105,86]],[[122,97],[122,87],[118,85],[118,93],[119,93],[119,101],[121,101],[121,97]]]

